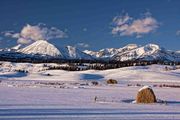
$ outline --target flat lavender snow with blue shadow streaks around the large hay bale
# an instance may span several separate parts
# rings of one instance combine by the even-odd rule
[[[51,88],[0,85],[0,118],[11,120],[180,118],[178,89],[154,89],[158,98],[166,100],[167,104],[144,105],[125,102],[134,100],[138,89],[139,87],[127,86]]]

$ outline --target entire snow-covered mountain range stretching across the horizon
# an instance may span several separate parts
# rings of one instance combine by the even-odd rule
[[[8,52],[7,52],[8,51]],[[13,53],[13,54],[12,54]],[[103,61],[131,61],[131,60],[160,60],[180,62],[180,52],[166,50],[156,44],[138,46],[128,44],[122,48],[105,48],[99,51],[80,51],[76,47],[66,46],[58,48],[55,45],[39,40],[26,47],[17,45],[8,50],[1,50],[0,55],[13,55],[17,57],[30,55],[31,57],[58,58],[67,60],[103,60]],[[7,57],[6,56],[6,57]]]

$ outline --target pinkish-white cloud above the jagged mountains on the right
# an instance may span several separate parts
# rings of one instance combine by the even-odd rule
[[[116,16],[113,19],[113,35],[142,37],[151,33],[159,27],[159,23],[150,14],[145,14],[143,18],[134,19],[127,13]]]

